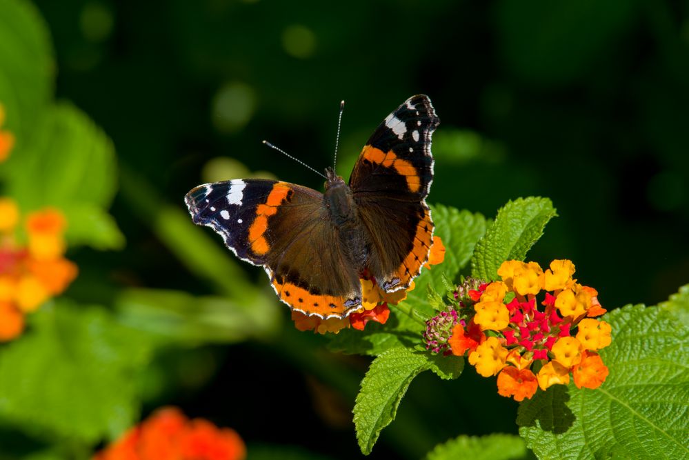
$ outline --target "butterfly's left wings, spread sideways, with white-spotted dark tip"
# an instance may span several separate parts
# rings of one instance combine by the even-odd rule
[[[236,179],[185,197],[194,223],[218,232],[243,261],[263,266],[290,308],[322,318],[361,306],[361,283],[337,241],[323,194],[292,183]]]

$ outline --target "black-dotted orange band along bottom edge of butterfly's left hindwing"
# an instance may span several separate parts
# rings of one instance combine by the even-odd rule
[[[356,310],[361,306],[358,304],[346,306],[344,297],[332,295],[312,294],[308,290],[295,286],[292,283],[279,283],[277,279],[272,280],[280,300],[287,303],[292,310],[297,310],[305,314],[316,314],[321,318],[345,317],[350,311]],[[351,302],[350,302],[351,303]]]

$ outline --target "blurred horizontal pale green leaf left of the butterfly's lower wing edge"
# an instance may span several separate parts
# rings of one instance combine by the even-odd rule
[[[278,305],[259,296],[254,302],[194,297],[176,290],[130,289],[116,301],[122,323],[187,343],[231,343],[274,335],[281,323]]]

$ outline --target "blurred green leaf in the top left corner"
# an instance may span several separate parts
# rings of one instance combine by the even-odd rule
[[[16,150],[32,137],[52,96],[52,55],[48,28],[36,7],[24,0],[1,0],[0,103],[6,110],[3,128],[17,136]]]

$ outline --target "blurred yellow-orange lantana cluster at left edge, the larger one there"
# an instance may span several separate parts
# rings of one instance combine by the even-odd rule
[[[20,221],[17,204],[0,198],[0,342],[18,337],[24,315],[77,277],[77,266],[64,257],[67,222],[61,212],[40,210],[21,227]]]

